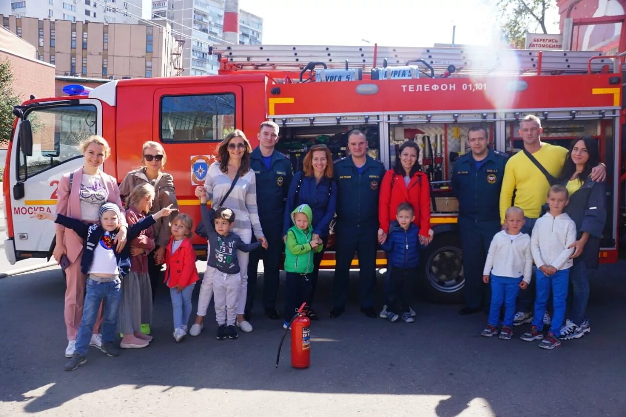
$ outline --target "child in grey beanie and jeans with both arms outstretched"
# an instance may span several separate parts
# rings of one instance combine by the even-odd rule
[[[171,213],[172,205],[141,219],[128,227],[126,239],[135,239],[141,230],[147,229],[155,224],[155,220]],[[111,357],[118,356],[120,351],[113,344],[113,340],[121,300],[121,279],[130,271],[130,245],[125,245],[121,252],[116,252],[113,245],[121,224],[120,208],[114,203],[104,203],[100,207],[100,224],[85,224],[81,220],[61,214],[39,213],[32,217],[39,220],[54,220],[55,223],[73,229],[85,239],[85,248],[80,261],[81,271],[87,275],[83,320],[76,336],[74,355],[65,364],[65,370],[73,371],[87,362],[87,348],[101,302],[105,304],[101,351]]]

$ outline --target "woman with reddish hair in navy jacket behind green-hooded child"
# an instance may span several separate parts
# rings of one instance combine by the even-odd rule
[[[291,212],[300,204],[308,204],[313,211],[313,239],[322,239],[321,252],[313,257],[314,270],[310,274],[311,292],[307,300],[309,307],[308,316],[311,320],[317,320],[317,313],[310,308],[317,286],[317,274],[319,264],[326,250],[329,227],[332,217],[335,215],[337,203],[337,184],[332,179],[332,155],[326,145],[313,145],[304,157],[302,170],[297,172],[289,186],[287,204],[285,205],[285,217],[283,222],[283,239],[287,236],[287,230],[292,226]]]

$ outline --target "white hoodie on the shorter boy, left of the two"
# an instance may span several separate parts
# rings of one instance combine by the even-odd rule
[[[493,272],[493,275],[498,277],[523,277],[523,281],[530,284],[533,272],[530,236],[525,233],[520,235],[511,240],[504,230],[496,233],[489,245],[483,275]]]

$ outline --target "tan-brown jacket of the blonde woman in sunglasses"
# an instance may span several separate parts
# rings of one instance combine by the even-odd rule
[[[127,173],[120,184],[121,197],[128,197],[137,185],[143,183],[150,183],[150,180],[146,177],[143,167]],[[174,178],[168,173],[160,172],[155,180],[155,198],[152,200],[150,213],[155,214],[159,210],[163,209],[163,207],[167,207],[170,204],[172,204],[173,209],[178,210],[176,190],[174,188]],[[156,220],[156,223],[153,226],[156,245],[167,245],[167,242],[170,240],[171,221],[174,217],[176,217],[176,215],[177,214],[172,213]]]

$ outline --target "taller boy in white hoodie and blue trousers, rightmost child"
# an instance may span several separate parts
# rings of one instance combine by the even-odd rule
[[[548,191],[548,212],[537,219],[533,227],[530,249],[537,266],[535,319],[530,331],[521,336],[522,340],[541,340],[539,347],[554,349],[561,346],[558,339],[565,319],[567,290],[572,268],[572,244],[576,241],[576,225],[563,213],[568,203],[569,193],[563,185],[553,185]],[[548,336],[543,337],[543,314],[552,289],[554,315]],[[539,319],[537,318],[539,317]]]

